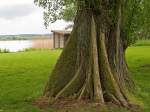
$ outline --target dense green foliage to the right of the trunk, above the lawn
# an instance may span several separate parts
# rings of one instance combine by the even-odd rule
[[[137,39],[150,38],[149,0],[126,0],[124,4],[123,33],[128,44]]]

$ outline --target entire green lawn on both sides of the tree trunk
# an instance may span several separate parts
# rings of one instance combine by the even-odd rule
[[[63,112],[40,110],[32,105],[32,101],[42,95],[60,53],[60,50],[43,50],[0,54],[0,112]],[[142,112],[150,112],[150,46],[131,47],[126,57],[137,85],[135,95],[144,104]],[[86,107],[74,112],[97,110]],[[109,112],[129,111],[112,107]]]

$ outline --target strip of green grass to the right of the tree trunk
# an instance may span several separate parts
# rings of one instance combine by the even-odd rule
[[[143,112],[150,112],[150,46],[131,47],[126,58],[137,86],[135,96],[144,103]]]

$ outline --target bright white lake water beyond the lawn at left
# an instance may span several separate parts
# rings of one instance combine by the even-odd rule
[[[23,51],[32,46],[30,40],[0,41],[0,49],[8,49],[10,52]]]

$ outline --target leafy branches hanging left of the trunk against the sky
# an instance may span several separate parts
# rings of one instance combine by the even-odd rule
[[[44,25],[48,27],[49,22],[58,19],[71,20],[75,16],[75,0],[34,0],[35,4],[43,7]]]

